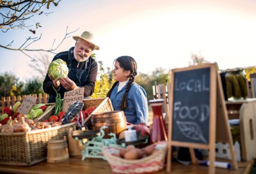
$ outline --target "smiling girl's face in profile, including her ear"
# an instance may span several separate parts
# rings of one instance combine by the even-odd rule
[[[126,71],[120,67],[119,62],[115,62],[115,67],[113,69],[114,80],[119,82],[124,82],[130,77],[130,70]]]

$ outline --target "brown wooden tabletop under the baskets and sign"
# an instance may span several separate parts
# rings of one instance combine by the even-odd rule
[[[216,168],[216,174],[247,174],[250,172],[254,160],[250,162],[240,162],[238,163],[239,169],[238,170],[226,170]],[[7,166],[7,165],[0,165],[0,173],[22,173],[22,174],[29,174],[29,173],[86,173],[86,174],[95,174],[95,173],[102,173],[102,174],[110,174],[111,168],[107,161],[102,159],[85,159],[84,161],[81,160],[81,156],[78,157],[71,157],[69,160],[59,163],[47,163],[41,162],[33,166],[29,167],[21,167],[21,166]],[[185,166],[177,162],[172,163],[172,174],[205,174],[208,172],[208,167],[200,166],[200,165],[189,165]],[[165,168],[157,174],[164,174],[167,173]]]

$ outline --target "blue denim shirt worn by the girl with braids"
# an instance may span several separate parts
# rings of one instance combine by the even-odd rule
[[[116,85],[110,95],[110,100],[115,111],[121,110],[121,102],[125,94],[127,84],[119,92],[117,92],[119,84]],[[148,105],[146,91],[137,83],[133,83],[128,91],[127,101],[128,108],[124,111],[127,122],[134,125],[141,122],[147,123]]]

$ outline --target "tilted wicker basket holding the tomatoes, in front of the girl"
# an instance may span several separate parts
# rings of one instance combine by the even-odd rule
[[[108,112],[108,111],[113,111],[112,103],[111,100],[106,97],[106,98],[95,98],[95,99],[83,99],[84,107],[83,109],[88,109],[90,107],[95,106],[96,109],[85,119],[85,126],[88,128],[91,127],[91,116],[93,113],[97,112]]]

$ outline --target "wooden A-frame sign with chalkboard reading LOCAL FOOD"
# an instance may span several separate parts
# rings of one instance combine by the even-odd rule
[[[195,162],[193,148],[209,149],[209,173],[215,173],[215,143],[218,140],[216,131],[218,132],[219,126],[224,129],[221,134],[225,136],[221,137],[221,142],[231,145],[232,162],[237,169],[227,109],[225,111],[224,108],[226,109],[226,105],[220,76],[217,74],[217,64],[172,70],[169,92],[168,172],[171,171],[171,146],[178,146],[190,148],[192,162]],[[217,112],[223,117],[222,122],[218,122]]]

